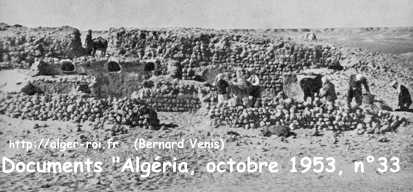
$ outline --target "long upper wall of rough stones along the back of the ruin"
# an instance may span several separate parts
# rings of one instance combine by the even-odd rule
[[[5,65],[27,68],[34,63],[34,58],[84,55],[80,33],[74,28],[8,30],[17,30],[13,34],[19,35],[1,36],[0,62]],[[208,67],[226,71],[242,68],[255,71],[263,88],[275,92],[280,91],[282,73],[299,72],[308,67],[337,68],[342,59],[341,52],[329,45],[255,38],[237,31],[111,29],[108,41],[108,54],[112,56],[176,61],[174,69],[179,70],[176,75],[182,79],[197,79]],[[166,75],[169,71],[164,65],[168,62],[162,62],[158,68],[159,73]]]

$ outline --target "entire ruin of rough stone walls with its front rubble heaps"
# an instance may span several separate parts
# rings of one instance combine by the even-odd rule
[[[339,104],[323,104],[315,96],[321,77],[343,70],[347,58],[341,49],[315,41],[317,37],[312,32],[305,35],[310,42],[300,43],[237,31],[195,29],[120,28],[96,32],[99,35],[71,27],[8,26],[3,30],[12,31],[13,35],[1,36],[1,68],[30,69],[32,76],[29,86],[22,90],[32,96],[2,102],[1,112],[12,117],[76,122],[114,119],[111,122],[155,126],[159,123],[155,111],[196,112],[206,108],[215,125],[247,129],[282,125],[292,130],[317,131],[357,129],[361,133],[391,131],[403,122],[374,106],[348,110]],[[243,95],[244,88],[231,86],[235,99],[230,99],[228,105],[217,105],[217,90],[212,86],[215,78],[223,73],[236,79],[236,72],[258,77],[259,98],[251,100]],[[62,102],[54,95],[69,101]],[[57,103],[48,106],[49,101]],[[89,101],[90,109],[78,110],[78,105],[70,103]],[[132,111],[125,111],[129,115],[117,112],[115,106],[119,102],[130,107]],[[72,106],[70,110],[66,103]],[[57,114],[45,112],[34,117],[34,109],[28,108],[32,105]],[[81,115],[67,114],[73,110]]]

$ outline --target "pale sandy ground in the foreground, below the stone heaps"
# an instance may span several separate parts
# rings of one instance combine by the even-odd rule
[[[73,161],[90,157],[109,161],[111,156],[146,157],[154,154],[176,156],[185,159],[196,169],[194,176],[176,173],[154,174],[148,178],[139,178],[139,174],[119,171],[111,163],[104,165],[104,172],[99,174],[39,174],[12,173],[0,174],[0,189],[4,191],[412,191],[413,190],[413,127],[410,125],[396,133],[384,135],[356,135],[346,132],[334,139],[331,132],[322,136],[311,136],[310,130],[297,130],[296,137],[282,139],[276,136],[264,137],[259,130],[213,128],[207,125],[202,112],[160,113],[160,119],[174,122],[177,127],[162,131],[131,129],[127,134],[111,135],[107,129],[93,130],[93,126],[78,126],[70,122],[33,122],[0,116],[0,153],[11,159]],[[39,126],[36,126],[38,124]],[[36,128],[38,127],[38,128]],[[237,133],[239,135],[234,136]],[[18,151],[8,148],[7,141],[26,139],[36,141],[41,138],[60,138],[64,140],[89,140],[114,138],[120,141],[118,150],[32,150]],[[135,151],[131,146],[135,138],[198,138],[201,140],[223,138],[223,151],[179,149]],[[2,156],[3,156],[2,155]],[[376,158],[396,156],[400,158],[400,171],[380,173],[376,163],[366,165],[366,172],[353,173],[353,161],[362,160],[368,155]],[[246,160],[273,160],[280,165],[280,173],[206,173],[203,171],[208,161],[229,158]],[[289,158],[297,156],[335,157],[338,173],[289,173]]]

